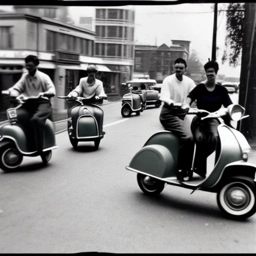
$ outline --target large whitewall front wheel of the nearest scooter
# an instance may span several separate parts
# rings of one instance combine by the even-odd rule
[[[217,192],[217,204],[227,217],[242,220],[256,212],[256,187],[251,181],[230,178]]]

